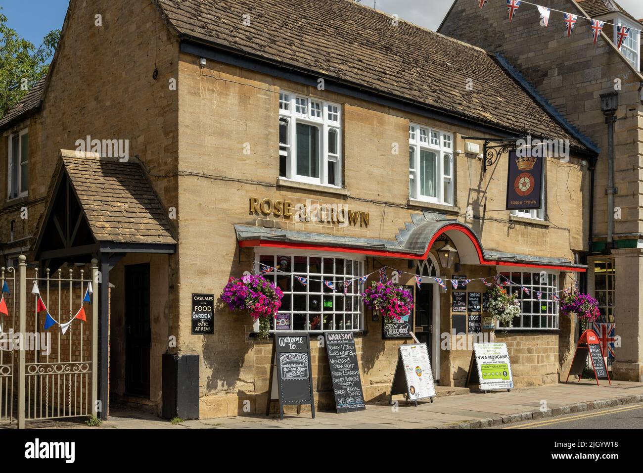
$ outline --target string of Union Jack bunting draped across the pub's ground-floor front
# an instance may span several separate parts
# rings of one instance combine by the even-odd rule
[[[265,274],[272,273],[272,272],[281,273],[281,274],[287,274],[287,275],[291,274],[290,272],[280,270],[278,267],[275,268],[274,266],[269,266],[269,264],[259,263],[258,261],[255,261],[255,264],[258,264],[260,266],[260,272],[259,272],[260,275],[265,275]],[[379,281],[381,283],[385,283],[386,281],[388,281],[388,276],[386,275],[386,270],[391,270],[391,272],[397,273],[398,276],[401,276],[403,274],[412,275],[415,278],[415,283],[417,284],[418,287],[421,286],[423,281],[433,279],[433,281],[435,281],[436,283],[440,284],[440,286],[442,286],[442,288],[445,288],[445,289],[446,289],[446,284],[447,283],[451,283],[451,287],[453,287],[453,289],[457,289],[460,286],[462,286],[463,288],[466,287],[467,284],[471,283],[472,281],[482,281],[482,283],[487,287],[491,287],[491,286],[493,286],[493,284],[497,284],[498,286],[509,286],[511,284],[512,286],[520,287],[520,289],[527,295],[530,295],[530,293],[532,291],[529,288],[527,288],[527,287],[525,287],[525,286],[523,286],[521,284],[512,283],[509,280],[509,278],[507,278],[503,274],[496,274],[494,276],[487,276],[487,277],[478,277],[476,279],[446,279],[446,278],[435,277],[435,276],[420,276],[420,275],[417,275],[417,274],[414,274],[414,273],[409,273],[409,272],[406,272],[406,271],[396,270],[396,269],[390,268],[388,266],[383,266],[383,267],[379,268],[379,270],[370,272],[370,273],[368,273],[366,275],[363,275],[361,277],[353,277],[353,278],[350,278],[350,279],[346,279],[344,281],[344,293],[348,292],[348,288],[350,287],[350,285],[354,281],[359,280],[359,282],[361,284],[364,284],[364,283],[367,282],[368,277],[370,277],[371,275],[374,275],[376,273],[379,275]],[[254,269],[253,269],[253,271],[254,271]],[[336,290],[334,284],[332,283],[332,281],[329,281],[328,279],[323,279],[323,277],[321,279],[315,279],[315,278],[311,278],[311,277],[305,278],[305,277],[294,275],[294,278],[297,279],[297,281],[299,281],[303,286],[306,286],[309,281],[316,281],[318,283],[325,284],[325,286],[330,288],[333,292],[337,292],[337,290]],[[491,282],[489,280],[491,280]],[[564,293],[565,295],[568,295],[571,292],[572,287],[575,288],[576,290],[578,290],[578,281],[577,280],[574,281],[574,285],[570,286],[570,288],[562,289],[562,290],[559,290],[559,291],[547,291],[547,294],[551,294],[552,299],[555,302],[557,302],[557,301],[561,300],[561,297],[559,297],[558,294],[559,293]],[[542,299],[542,297],[543,297],[543,292],[535,291],[535,293],[536,293],[536,298],[540,301]]]

